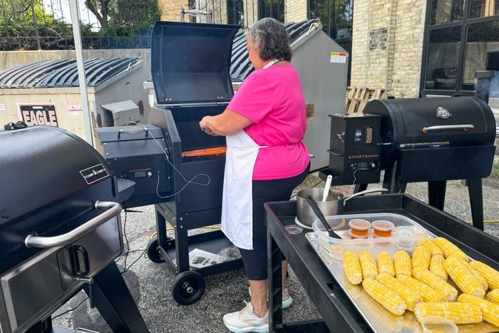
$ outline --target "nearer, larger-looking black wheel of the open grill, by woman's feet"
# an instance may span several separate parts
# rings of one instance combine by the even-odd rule
[[[205,279],[193,270],[181,272],[172,285],[172,295],[180,305],[190,305],[197,302],[205,292]]]

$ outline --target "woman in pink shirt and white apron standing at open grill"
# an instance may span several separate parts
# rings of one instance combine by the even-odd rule
[[[267,229],[263,204],[289,200],[309,173],[310,160],[302,143],[307,119],[299,77],[291,61],[289,36],[281,22],[264,18],[246,34],[253,71],[227,109],[206,116],[200,128],[225,135],[227,154],[222,199],[222,231],[241,252],[249,280],[251,302],[225,314],[232,332],[267,332]],[[282,306],[292,297],[285,289]]]

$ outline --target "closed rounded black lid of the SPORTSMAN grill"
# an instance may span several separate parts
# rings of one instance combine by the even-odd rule
[[[493,145],[495,140],[493,112],[475,97],[374,100],[363,112],[383,116],[381,138],[393,149]]]

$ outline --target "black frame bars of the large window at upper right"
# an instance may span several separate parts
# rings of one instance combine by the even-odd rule
[[[463,19],[461,21],[453,21],[443,24],[434,24],[430,25],[431,21],[431,2],[432,0],[426,0],[426,19],[425,19],[425,28],[424,28],[424,36],[423,36],[423,55],[421,61],[421,78],[419,82],[419,91],[421,91],[424,95],[442,95],[442,96],[475,96],[475,91],[462,90],[463,85],[463,71],[464,71],[464,61],[466,54],[466,41],[468,40],[468,26],[472,24],[485,23],[490,21],[499,21],[499,15],[494,16],[484,16],[484,17],[476,17],[470,19],[470,1],[465,1],[464,11],[463,11]],[[457,78],[456,78],[456,88],[452,90],[437,90],[437,89],[426,89],[425,81],[426,81],[426,61],[428,61],[428,40],[431,31],[435,31],[438,29],[452,28],[455,26],[461,26],[461,41],[459,46],[459,55],[458,55],[458,70],[457,70]],[[485,69],[485,68],[483,68]]]

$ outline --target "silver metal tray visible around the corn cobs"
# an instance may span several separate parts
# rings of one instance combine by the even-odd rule
[[[435,235],[428,232],[430,238],[435,237]],[[342,290],[351,302],[354,304],[356,309],[359,310],[360,314],[366,320],[366,323],[374,330],[374,332],[382,333],[395,333],[395,332],[423,332],[423,327],[416,319],[413,312],[406,310],[402,316],[396,316],[388,310],[386,310],[381,304],[376,302],[369,294],[366,293],[361,285],[351,285],[343,272],[343,262],[341,260],[336,260],[324,248],[319,244],[319,237],[315,232],[307,232],[305,237],[310,242],[310,245],[314,248],[317,255],[324,265],[326,265],[334,280],[338,282]],[[449,280],[449,282],[452,281]],[[495,327],[493,324],[488,322],[480,322],[478,324],[461,324],[458,325],[459,332],[495,332],[498,331],[499,327]]]

